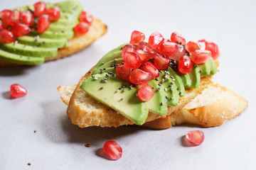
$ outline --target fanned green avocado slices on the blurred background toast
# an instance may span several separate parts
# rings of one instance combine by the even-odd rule
[[[60,19],[50,23],[48,30],[38,33],[34,30],[18,38],[17,42],[4,44],[0,42],[0,59],[17,64],[42,64],[45,57],[57,55],[58,49],[67,45],[73,38],[73,28],[79,22],[82,5],[77,0],[47,4],[48,8],[58,6]],[[33,5],[17,7],[20,11],[33,11]]]

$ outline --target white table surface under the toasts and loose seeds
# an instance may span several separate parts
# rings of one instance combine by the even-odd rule
[[[35,1],[1,2],[0,10]],[[104,37],[63,60],[0,69],[0,169],[256,169],[255,1],[102,0],[82,4],[107,23]],[[57,87],[76,84],[106,52],[129,41],[133,30],[147,37],[157,30],[167,38],[178,31],[186,40],[216,42],[221,58],[215,82],[247,98],[247,110],[216,128],[81,129],[72,125]],[[9,86],[14,83],[26,87],[28,95],[9,99]],[[181,139],[188,130],[203,130],[203,144],[183,146]],[[107,140],[122,146],[121,159],[99,157]],[[87,142],[92,147],[85,147]]]

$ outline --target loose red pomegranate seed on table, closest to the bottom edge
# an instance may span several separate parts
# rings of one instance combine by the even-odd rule
[[[114,160],[120,159],[122,157],[122,147],[120,147],[120,145],[118,145],[118,143],[113,140],[108,140],[105,142],[103,151]]]

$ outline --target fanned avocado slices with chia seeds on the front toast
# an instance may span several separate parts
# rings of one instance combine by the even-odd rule
[[[201,77],[217,72],[212,58],[204,64],[195,65],[188,74],[181,74],[171,67],[161,70],[157,79],[148,81],[154,90],[154,96],[151,100],[144,102],[137,97],[139,86],[131,88],[131,84],[119,79],[115,72],[114,65],[123,62],[122,47],[124,45],[120,45],[102,57],[92,71],[92,77],[86,79],[80,88],[137,125],[144,124],[149,111],[165,115],[167,106],[178,106],[178,99],[184,96],[185,88],[196,88],[200,84]],[[124,84],[125,87],[119,89]]]

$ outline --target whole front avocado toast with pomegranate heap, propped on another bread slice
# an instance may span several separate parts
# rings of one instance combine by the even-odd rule
[[[129,44],[108,52],[78,85],[58,87],[73,124],[213,127],[247,108],[244,98],[211,81],[218,67],[215,43],[186,42],[178,33],[165,39],[158,32],[144,40],[135,30]]]

